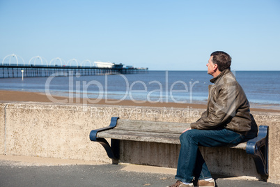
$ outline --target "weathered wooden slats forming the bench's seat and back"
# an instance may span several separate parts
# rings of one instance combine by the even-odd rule
[[[97,136],[117,140],[180,144],[179,137],[187,128],[190,128],[188,123],[118,119],[115,128],[99,132]],[[244,142],[230,147],[245,150],[246,145]]]

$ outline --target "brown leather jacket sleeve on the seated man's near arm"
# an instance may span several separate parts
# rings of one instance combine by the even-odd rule
[[[238,106],[236,99],[238,88],[236,84],[226,85],[216,93],[218,93],[217,96],[210,98],[208,110],[203,112],[198,121],[191,124],[192,129],[208,130],[217,128],[235,116]]]

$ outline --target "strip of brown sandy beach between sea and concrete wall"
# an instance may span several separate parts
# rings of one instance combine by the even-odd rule
[[[81,98],[79,100],[76,100],[76,98],[69,99],[66,97],[61,96],[52,96],[56,100],[67,100],[67,102],[63,101],[61,103],[83,103],[84,100]],[[0,100],[3,101],[23,101],[23,102],[46,102],[46,103],[52,103],[53,101],[50,100],[45,93],[36,93],[36,92],[26,92],[26,91],[7,91],[7,90],[0,90]],[[69,102],[70,101],[70,102]],[[117,103],[113,103],[109,100],[109,102],[106,102],[106,100],[102,99],[98,103],[95,103],[96,105],[126,105],[126,106],[148,106],[148,107],[192,107],[192,108],[201,108],[206,109],[207,105],[203,104],[194,104],[194,103],[135,103],[132,100],[119,100]],[[60,102],[57,102],[60,103]],[[88,103],[88,102],[87,102]],[[91,103],[88,103],[91,104]],[[251,107],[251,111],[258,111],[258,112],[280,112],[280,110],[274,110],[270,109],[269,107],[263,105],[263,107],[254,108]]]

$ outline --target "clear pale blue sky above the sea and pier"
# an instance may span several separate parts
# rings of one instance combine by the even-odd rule
[[[0,0],[1,62],[17,54],[206,70],[216,50],[231,54],[233,70],[280,70],[280,1]]]

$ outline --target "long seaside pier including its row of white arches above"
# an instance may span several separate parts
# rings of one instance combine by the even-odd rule
[[[49,63],[43,57],[32,57],[26,64],[24,59],[16,54],[4,57],[0,64],[0,78],[10,77],[49,77],[49,76],[86,76],[86,75],[114,75],[114,74],[134,74],[147,73],[148,68],[133,68],[123,64],[102,63],[90,60],[82,61],[80,64],[77,59],[70,59],[67,63],[56,57]],[[105,66],[105,65],[106,66]],[[108,66],[107,64],[110,64]]]

